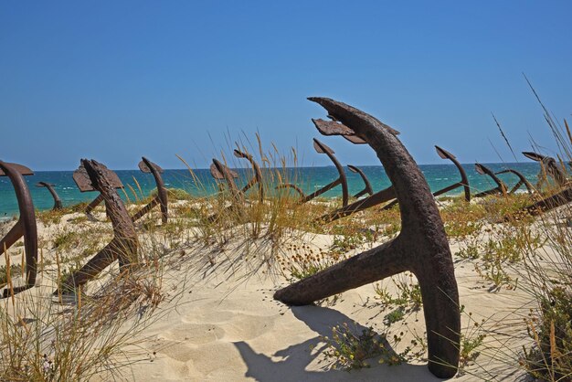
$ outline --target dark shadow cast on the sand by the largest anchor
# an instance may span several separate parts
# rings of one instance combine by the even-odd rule
[[[352,323],[353,320],[343,313],[329,308],[314,305],[294,306],[291,312],[296,318],[308,325],[317,335],[302,344],[291,345],[279,350],[273,355],[259,354],[245,342],[236,342],[240,355],[248,366],[245,377],[252,377],[258,381],[439,381],[429,373],[425,365],[386,366],[377,363],[377,358],[370,360],[371,368],[363,368],[347,372],[336,370],[323,365],[322,370],[306,370],[322,349],[312,348],[321,344],[320,336],[331,336],[332,327],[337,324]],[[365,326],[355,325],[358,333]],[[275,330],[280,330],[275,328]],[[285,340],[288,340],[285,338]],[[281,358],[274,360],[273,358]],[[317,361],[316,361],[317,362]],[[318,366],[320,367],[320,366]],[[315,366],[313,366],[315,369]]]

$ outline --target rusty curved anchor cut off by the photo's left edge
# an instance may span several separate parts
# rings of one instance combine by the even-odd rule
[[[3,239],[0,239],[2,253],[10,248],[16,241],[24,237],[24,251],[26,253],[26,282],[24,285],[6,288],[2,292],[2,298],[9,297],[19,292],[26,291],[36,284],[37,276],[37,226],[36,214],[32,196],[26,186],[23,175],[34,175],[32,170],[22,164],[9,164],[0,161],[0,176],[8,176],[18,201],[20,218]],[[7,266],[7,264],[6,264]],[[24,264],[22,264],[24,266]]]

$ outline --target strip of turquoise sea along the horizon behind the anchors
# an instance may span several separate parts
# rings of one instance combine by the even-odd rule
[[[493,171],[501,171],[505,168],[513,168],[521,172],[534,185],[540,170],[539,164],[535,162],[521,164],[486,164]],[[431,190],[435,191],[445,186],[458,182],[461,177],[453,164],[421,164],[421,171],[428,180]],[[463,164],[469,177],[472,192],[476,193],[494,187],[493,180],[487,175],[479,175],[474,170],[474,164]],[[380,165],[361,166],[365,175],[369,178],[374,192],[389,186],[384,168]],[[194,170],[196,177],[193,177],[188,170],[165,170],[163,174],[164,183],[167,187],[182,188],[193,196],[205,196],[217,192],[217,184],[211,177],[207,169]],[[282,170],[284,171],[284,170]],[[334,166],[326,167],[300,167],[297,169],[285,170],[289,179],[297,179],[295,182],[301,186],[304,192],[309,193],[327,185],[337,177]],[[251,172],[249,169],[238,169],[238,185],[245,184]],[[121,193],[123,198],[135,198],[147,196],[154,189],[154,178],[150,174],[143,174],[139,170],[118,170],[117,175],[122,179],[125,186],[125,193]],[[37,182],[44,181],[54,184],[64,206],[71,206],[79,202],[90,201],[97,193],[79,192],[71,175],[72,171],[38,171],[35,175],[26,176],[26,182],[34,200],[37,210],[49,209],[53,206],[53,199],[46,188],[35,186]],[[348,186],[353,195],[364,187],[361,177],[346,169]],[[509,186],[514,186],[518,178],[512,174],[499,175]],[[134,191],[134,192],[133,192]],[[462,189],[458,188],[450,195],[461,194]],[[341,188],[335,187],[323,196],[341,196]],[[7,177],[0,177],[0,219],[11,218],[18,215],[16,195]]]

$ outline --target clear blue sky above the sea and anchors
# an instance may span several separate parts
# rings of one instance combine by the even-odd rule
[[[554,147],[523,72],[572,119],[571,15],[570,1],[3,2],[0,158],[205,167],[228,133],[258,131],[328,164],[311,141],[325,114],[305,100],[327,96],[395,127],[419,164],[442,163],[433,144],[499,162],[489,140],[511,162],[492,111],[515,151],[529,133]],[[323,142],[344,164],[378,164],[365,146]]]

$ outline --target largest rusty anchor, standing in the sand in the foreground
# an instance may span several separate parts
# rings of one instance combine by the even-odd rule
[[[437,377],[453,377],[460,357],[459,292],[443,222],[427,181],[393,129],[342,102],[309,100],[339,121],[335,122],[336,133],[355,135],[376,151],[399,200],[402,229],[396,239],[283,288],[274,298],[306,305],[411,271],[418,278],[423,298],[429,371]],[[312,121],[322,131],[322,121]]]

